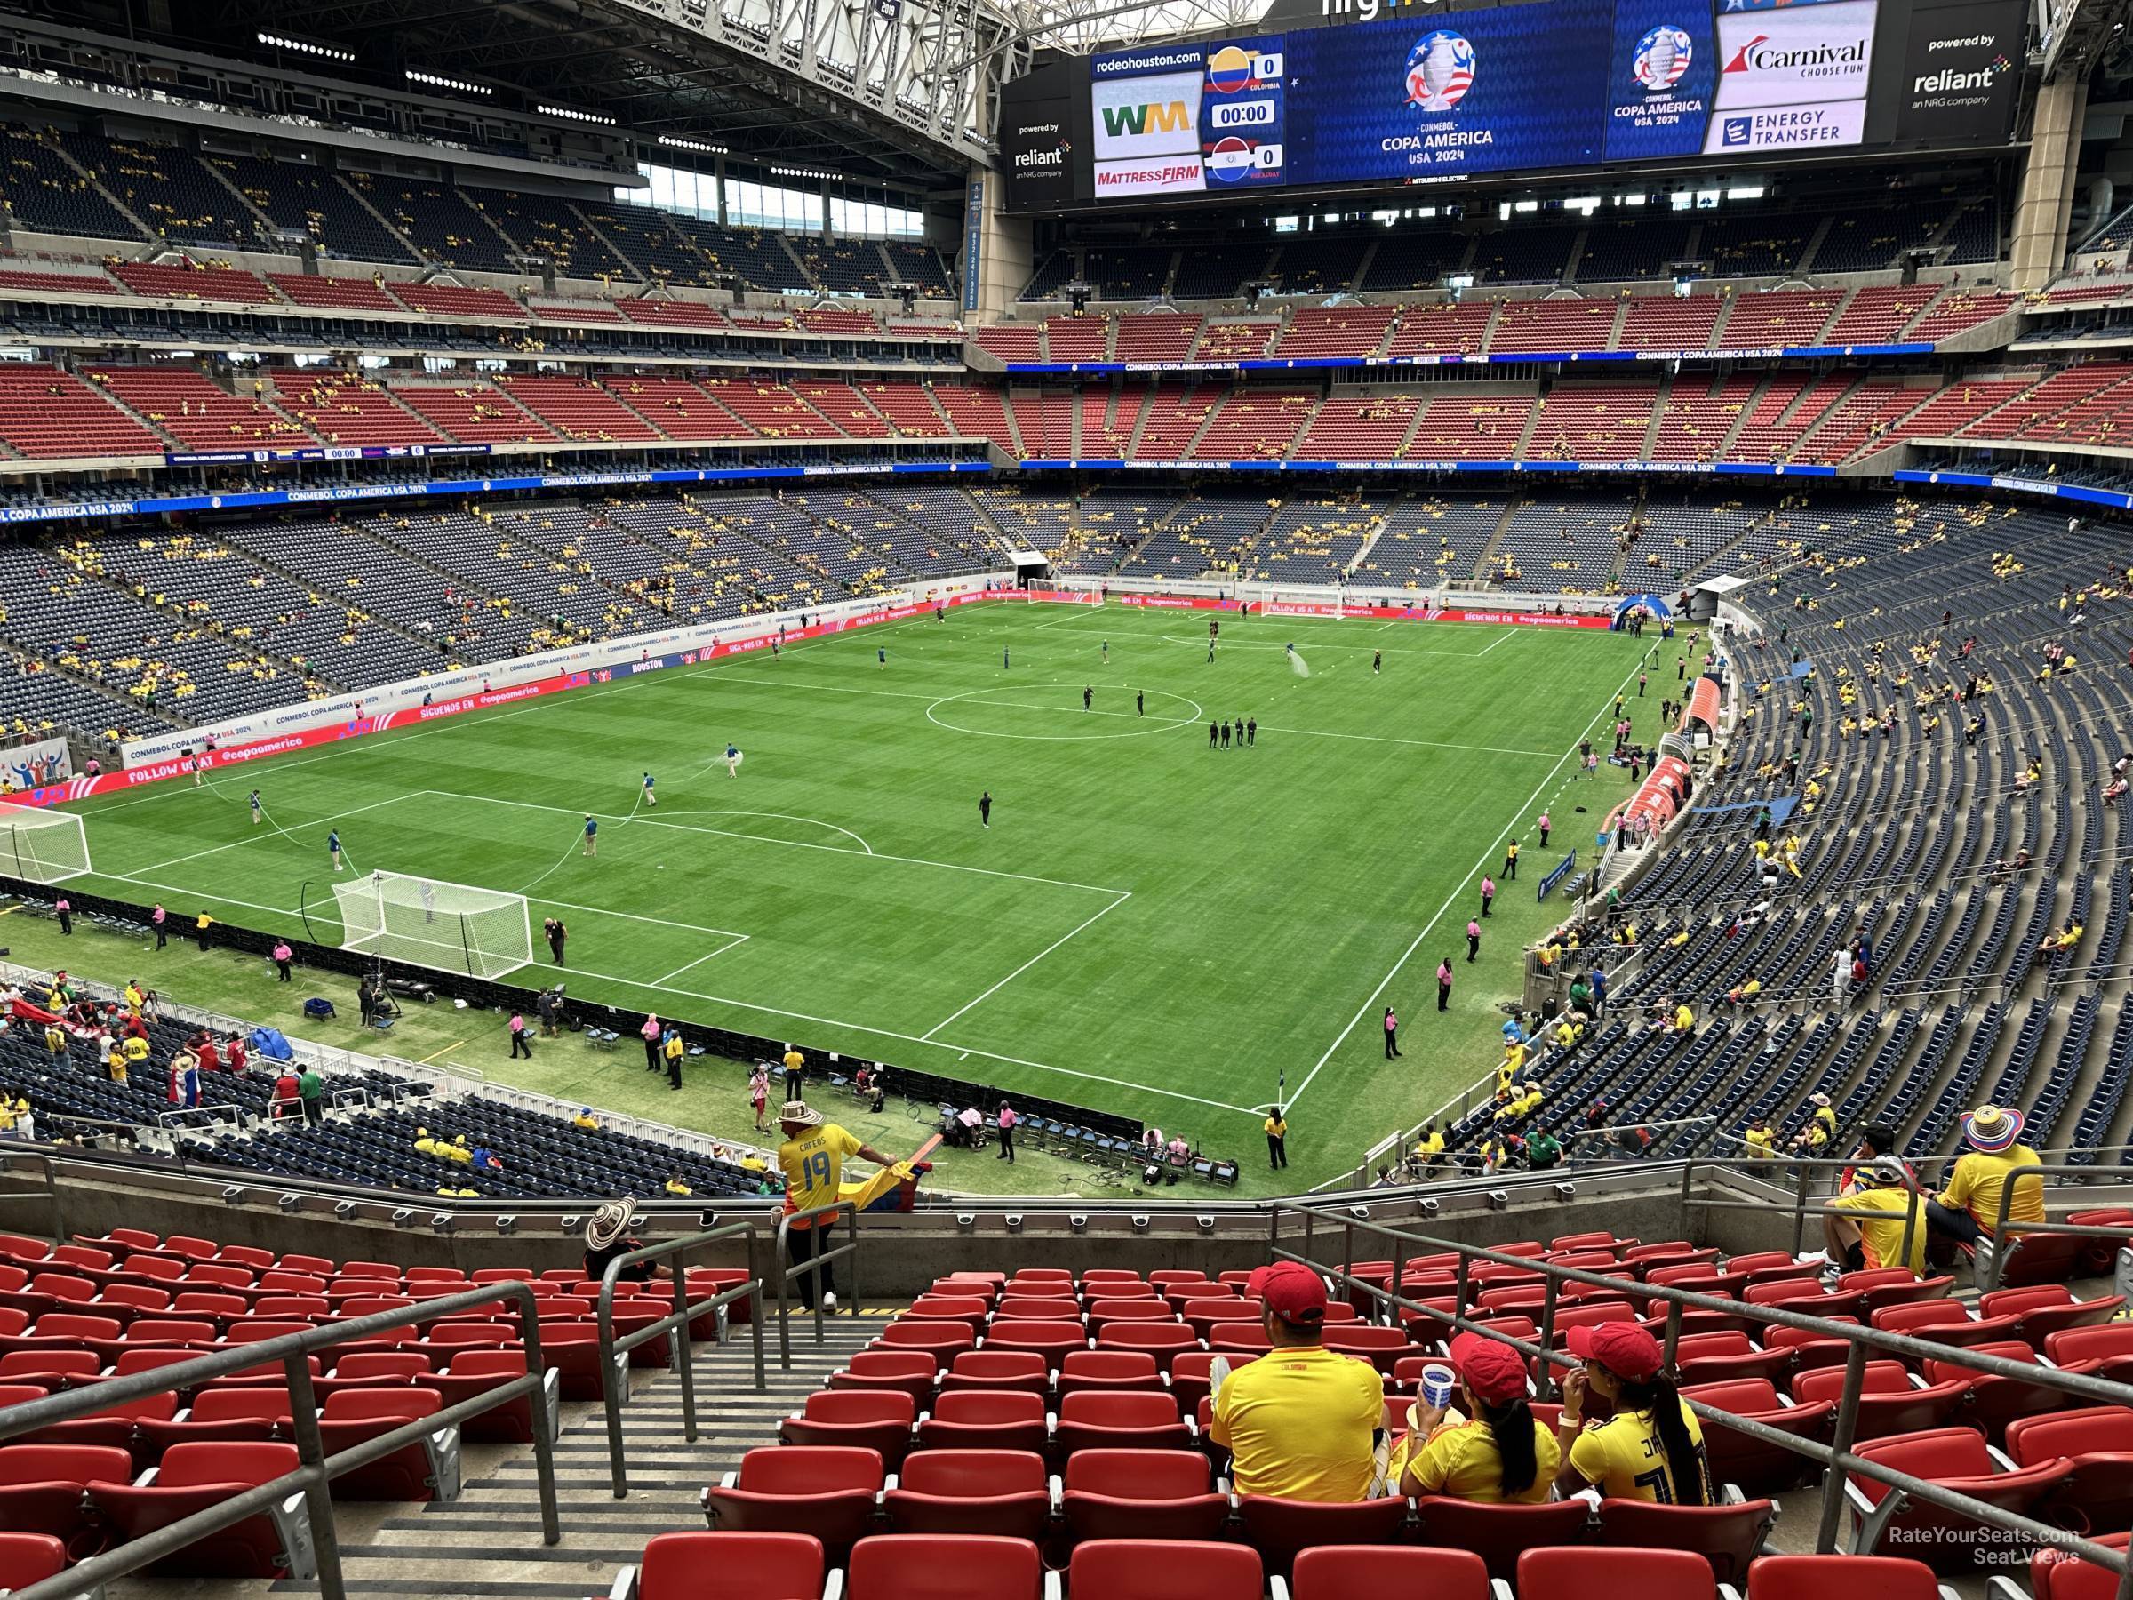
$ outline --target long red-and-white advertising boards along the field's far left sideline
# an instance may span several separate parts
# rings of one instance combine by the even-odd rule
[[[766,617],[749,619],[747,631],[732,623],[721,623],[710,629],[676,629],[653,638],[580,644],[565,651],[544,651],[525,661],[497,661],[488,670],[461,668],[459,672],[433,678],[384,685],[363,695],[284,706],[215,727],[173,730],[124,745],[124,772],[68,779],[66,783],[32,789],[19,796],[19,800],[41,806],[62,800],[83,800],[92,794],[109,794],[113,789],[130,789],[141,783],[160,783],[190,774],[194,768],[213,772],[346,738],[365,738],[395,727],[416,727],[420,723],[461,717],[469,710],[495,710],[497,706],[540,700],[565,689],[627,683],[644,672],[695,668],[732,655],[768,651],[772,644],[798,644],[855,627],[902,623],[924,617],[936,604],[966,606],[979,599],[1005,599],[1020,593],[1013,589],[975,587],[977,582],[981,580],[941,585],[934,593],[896,606],[866,599],[847,602],[834,614],[808,610],[806,614],[815,621],[806,627],[779,625],[776,617]],[[1069,595],[1060,597],[1066,599]],[[789,614],[798,617],[798,612]],[[631,655],[636,659],[629,659]],[[495,683],[495,678],[506,678],[512,668],[525,672],[525,676]]]

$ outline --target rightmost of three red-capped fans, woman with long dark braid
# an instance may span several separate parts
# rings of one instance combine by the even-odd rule
[[[1659,1342],[1636,1323],[1600,1323],[1570,1329],[1570,1355],[1585,1365],[1563,1378],[1555,1487],[1566,1498],[1598,1489],[1610,1500],[1717,1504],[1704,1431],[1681,1404]],[[1615,1404],[1615,1414],[1589,1429],[1587,1391]]]

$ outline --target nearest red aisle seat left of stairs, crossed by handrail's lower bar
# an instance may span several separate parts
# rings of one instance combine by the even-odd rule
[[[294,1470],[294,1444],[173,1444],[149,1483],[98,1481],[90,1485],[90,1500],[122,1540],[132,1540]],[[311,1527],[303,1495],[292,1493],[273,1510],[207,1534],[145,1570],[207,1579],[307,1579]]]

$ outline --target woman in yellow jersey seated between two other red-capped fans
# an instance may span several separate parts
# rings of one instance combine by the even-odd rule
[[[1450,1495],[1485,1504],[1538,1504],[1555,1487],[1561,1446],[1525,1404],[1525,1357],[1502,1340],[1461,1333],[1453,1372],[1468,1419],[1444,1423],[1444,1408],[1408,1412],[1404,1495]]]

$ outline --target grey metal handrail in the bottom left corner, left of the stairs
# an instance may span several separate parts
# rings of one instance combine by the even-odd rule
[[[480,1395],[469,1399],[459,1399],[442,1410],[429,1412],[427,1417],[418,1417],[412,1423],[403,1423],[390,1434],[380,1434],[378,1438],[350,1446],[339,1455],[324,1453],[318,1431],[318,1397],[311,1391],[309,1357],[314,1350],[350,1344],[352,1340],[363,1340],[371,1333],[390,1333],[397,1327],[414,1327],[416,1323],[429,1323],[439,1316],[450,1316],[452,1312],[474,1310],[478,1306],[495,1306],[499,1299],[518,1301],[518,1329],[527,1357],[527,1370],[520,1376],[499,1382],[495,1389],[484,1389]],[[555,1419],[548,1410],[546,1363],[542,1361],[540,1350],[540,1312],[535,1310],[533,1289],[525,1282],[480,1284],[459,1295],[424,1299],[418,1306],[401,1306],[388,1312],[354,1316],[346,1323],[314,1327],[303,1333],[282,1333],[279,1338],[260,1340],[256,1344],[215,1350],[213,1355],[203,1355],[198,1361],[181,1361],[169,1367],[130,1372],[124,1378],[107,1378],[81,1389],[45,1395],[43,1399],[28,1399],[19,1406],[0,1410],[0,1442],[41,1427],[51,1427],[53,1423],[66,1423],[77,1417],[111,1410],[115,1406],[124,1406],[128,1399],[145,1399],[147,1395],[196,1389],[209,1378],[247,1372],[264,1365],[267,1361],[279,1361],[284,1374],[288,1376],[290,1421],[296,1431],[294,1472],[286,1472],[271,1483],[245,1489],[243,1493],[196,1510],[190,1517],[181,1517],[166,1527],[158,1527],[154,1534],[143,1534],[141,1538],[128,1540],[126,1545],[105,1551],[102,1555],[92,1555],[90,1559],[70,1566],[66,1572],[32,1583],[26,1589],[17,1589],[15,1600],[68,1600],[70,1596],[81,1596],[109,1583],[111,1579],[139,1572],[143,1566],[160,1562],[164,1555],[181,1551],[207,1534],[235,1527],[247,1517],[279,1504],[294,1491],[303,1491],[305,1513],[311,1525],[311,1551],[318,1562],[320,1598],[346,1600],[346,1585],[341,1581],[341,1547],[333,1527],[333,1478],[343,1472],[352,1472],[358,1466],[380,1461],[395,1451],[427,1438],[439,1427],[459,1423],[467,1417],[480,1417],[482,1412],[495,1410],[499,1404],[518,1399],[520,1395],[527,1397],[533,1412],[533,1472],[540,1485],[542,1545],[557,1545],[563,1538],[555,1500]]]

